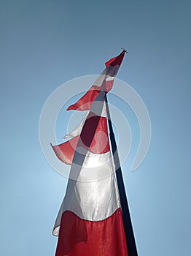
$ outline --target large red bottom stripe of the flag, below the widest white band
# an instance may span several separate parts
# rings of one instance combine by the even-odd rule
[[[90,222],[71,211],[62,215],[55,256],[128,256],[121,209]]]

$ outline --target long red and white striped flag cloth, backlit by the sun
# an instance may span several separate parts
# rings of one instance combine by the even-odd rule
[[[106,93],[125,51],[106,62],[106,69],[89,91],[68,110],[87,110],[79,126],[52,146],[62,162],[71,165],[53,235],[55,256],[128,256],[120,195],[109,146]]]

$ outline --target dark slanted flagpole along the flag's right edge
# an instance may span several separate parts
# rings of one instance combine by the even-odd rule
[[[117,151],[117,144],[114,138],[114,131],[112,127],[111,116],[109,113],[109,105],[106,97],[106,112],[108,115],[108,124],[109,124],[109,137],[111,140],[112,146],[112,154],[114,156],[114,165],[117,167],[116,170],[116,178],[117,178],[117,185],[120,194],[120,204],[122,209],[122,220],[125,229],[125,237],[128,245],[128,255],[129,256],[138,256],[137,249],[136,249],[136,241],[133,233],[133,225],[130,219],[130,211],[128,208],[128,200],[125,192],[125,186],[122,178],[122,170],[120,167],[120,159]]]

